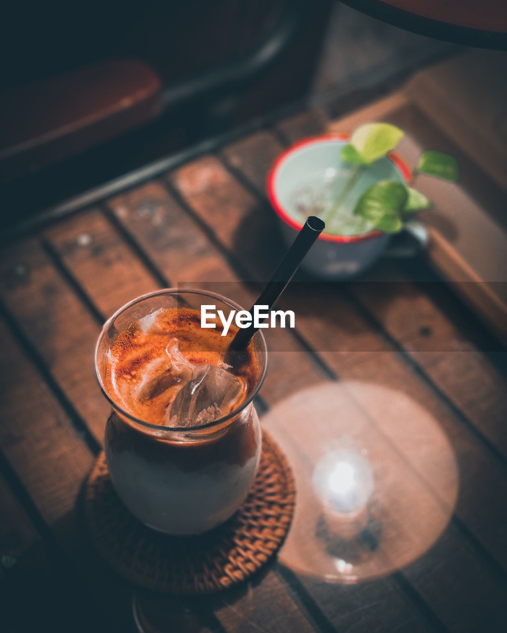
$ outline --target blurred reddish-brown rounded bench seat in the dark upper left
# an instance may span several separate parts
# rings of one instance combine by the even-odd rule
[[[0,97],[0,163],[15,178],[138,127],[160,113],[161,82],[146,64],[111,60]]]

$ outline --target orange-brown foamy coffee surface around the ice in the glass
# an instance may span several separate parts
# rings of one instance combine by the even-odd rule
[[[167,370],[169,357],[165,348],[170,339],[177,338],[179,351],[193,365],[222,367],[238,329],[231,325],[226,336],[221,335],[221,323],[217,323],[216,329],[203,329],[200,327],[200,311],[190,308],[160,310],[141,321],[132,323],[113,344],[106,363],[105,388],[124,411],[144,422],[162,424],[167,408],[180,389],[177,380],[172,384],[170,371]],[[240,396],[233,406],[237,408],[259,380],[259,363],[252,344],[240,354],[235,354],[233,361],[227,360],[233,365],[228,371],[242,385]],[[146,375],[155,380],[158,375],[164,375],[164,384],[162,388],[155,385],[153,389],[148,389],[150,397],[139,398],[139,385]]]

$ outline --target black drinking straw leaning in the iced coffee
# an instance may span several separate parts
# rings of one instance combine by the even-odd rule
[[[268,306],[267,310],[271,310],[275,301],[279,298],[281,293],[287,287],[288,282],[292,279],[293,274],[298,269],[300,263],[303,261],[305,254],[311,249],[312,245],[323,232],[324,227],[323,220],[314,215],[309,216],[304,227],[298,233],[290,249],[283,260],[281,260],[278,268],[274,272],[273,277],[266,285],[266,288],[260,294],[259,299],[255,301],[252,308],[250,308],[250,314],[252,315],[252,323],[245,328],[238,330],[236,336],[234,336],[233,342],[231,342],[231,349],[240,351],[245,349],[255,332],[259,329],[254,327],[254,306]]]

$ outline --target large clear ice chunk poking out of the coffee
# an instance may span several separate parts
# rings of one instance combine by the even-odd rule
[[[242,391],[240,380],[222,367],[192,365],[177,349],[176,339],[170,341],[167,353],[182,387],[167,408],[165,425],[193,427],[214,422],[234,409]]]

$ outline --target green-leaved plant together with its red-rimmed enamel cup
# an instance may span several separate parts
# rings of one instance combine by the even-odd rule
[[[304,260],[310,272],[346,279],[362,272],[387,247],[390,235],[427,233],[414,214],[431,202],[409,185],[411,171],[394,153],[404,132],[390,123],[366,123],[353,134],[305,139],[279,156],[268,177],[268,194],[292,242],[309,215],[326,229]],[[455,182],[456,160],[426,151],[415,170]]]

